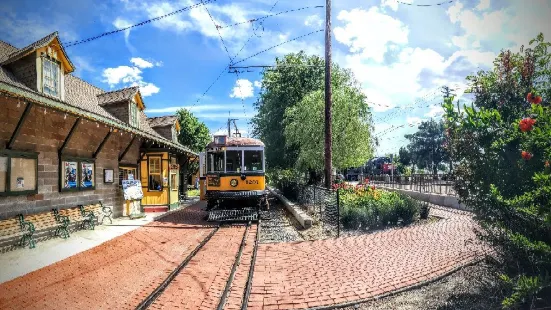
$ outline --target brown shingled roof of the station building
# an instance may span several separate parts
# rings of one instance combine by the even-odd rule
[[[17,95],[24,96],[29,101],[69,113],[74,113],[95,121],[100,121],[115,128],[132,132],[134,134],[144,136],[145,138],[169,145],[188,154],[197,155],[189,150],[189,148],[179,143],[170,141],[153,130],[153,128],[149,126],[147,116],[143,110],[140,111],[140,128],[137,129],[122,122],[103,108],[106,104],[116,102],[115,100],[129,100],[136,94],[138,94],[141,101],[138,87],[129,87],[112,92],[105,92],[103,89],[91,85],[76,76],[65,74],[65,100],[60,100],[58,98],[37,92],[35,89],[31,89],[21,83],[10,71],[10,69],[5,66],[5,64],[14,62],[16,57],[21,58],[24,55],[28,55],[36,48],[46,46],[48,43],[45,42],[51,42],[53,40],[52,36],[54,36],[53,38],[57,38],[57,33],[50,34],[20,50],[9,43],[0,40],[0,91],[15,93]]]

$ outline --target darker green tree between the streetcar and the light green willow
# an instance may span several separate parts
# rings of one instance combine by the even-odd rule
[[[273,168],[295,165],[297,150],[285,143],[283,117],[285,110],[312,91],[323,89],[324,60],[304,52],[276,58],[276,70],[262,73],[262,89],[254,104],[257,115],[252,119],[254,136],[266,145],[266,162]]]

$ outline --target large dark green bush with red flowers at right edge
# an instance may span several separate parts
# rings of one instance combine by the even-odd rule
[[[551,304],[551,43],[540,34],[530,46],[468,77],[470,107],[443,105],[455,189],[512,275],[505,307]]]

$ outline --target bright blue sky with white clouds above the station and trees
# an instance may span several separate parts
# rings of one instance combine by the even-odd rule
[[[549,0],[416,6],[441,1],[333,1],[333,61],[352,70],[367,96],[380,143],[376,155],[397,152],[407,144],[404,134],[415,132],[419,122],[441,117],[442,86],[452,88],[456,100],[468,103],[471,98],[463,94],[467,75],[490,68],[500,50],[518,51],[540,32],[551,38]],[[139,86],[148,116],[187,108],[213,134],[225,132],[231,117],[238,119],[240,132],[247,136],[256,113],[253,103],[262,87],[261,71],[230,73],[231,61],[239,66],[273,65],[276,57],[301,50],[324,56],[324,32],[316,32],[324,28],[325,7],[319,7],[325,5],[323,0],[2,4],[0,39],[20,48],[53,31],[67,45],[192,6],[68,46],[66,52],[76,66],[74,74],[93,85],[106,91]],[[250,22],[288,10],[294,11]],[[301,38],[281,44],[297,37]]]

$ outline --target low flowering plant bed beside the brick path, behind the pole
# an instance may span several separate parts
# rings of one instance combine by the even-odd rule
[[[415,221],[421,207],[415,199],[375,187],[357,186],[340,191],[341,222],[346,229],[408,225]]]

